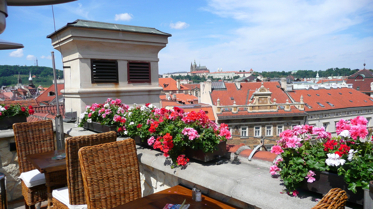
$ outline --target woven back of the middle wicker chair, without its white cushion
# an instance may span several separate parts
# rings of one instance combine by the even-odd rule
[[[116,138],[116,132],[110,131],[102,134],[72,136],[66,139],[66,167],[70,205],[87,204],[85,200],[82,171],[79,164],[79,149],[87,146],[115,142]]]

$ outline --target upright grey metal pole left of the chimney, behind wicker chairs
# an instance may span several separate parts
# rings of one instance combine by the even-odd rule
[[[60,114],[60,103],[58,101],[58,88],[57,88],[57,74],[56,74],[56,63],[54,62],[54,52],[50,52],[52,54],[52,65],[53,65],[53,78],[54,78],[54,92],[56,95],[56,107],[57,107],[57,115],[54,119],[56,122],[56,142],[57,142],[57,149],[65,149],[65,134],[63,133],[63,120],[62,115]]]

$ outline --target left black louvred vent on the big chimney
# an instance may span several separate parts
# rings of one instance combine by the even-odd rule
[[[116,60],[91,60],[91,83],[119,83]]]

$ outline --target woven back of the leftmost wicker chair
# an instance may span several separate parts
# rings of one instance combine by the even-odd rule
[[[26,158],[28,154],[54,150],[52,120],[14,123],[19,173],[36,169]]]

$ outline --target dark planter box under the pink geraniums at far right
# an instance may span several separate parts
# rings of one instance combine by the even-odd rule
[[[361,189],[361,187],[356,187],[356,193],[353,193],[351,190],[347,189],[348,184],[345,183],[342,176],[338,176],[337,174],[325,171],[316,171],[315,174],[316,175],[313,177],[316,180],[312,183],[308,183],[306,180],[303,181],[301,186],[302,189],[325,195],[332,188],[341,188],[347,193],[347,201],[363,205],[364,190]]]

